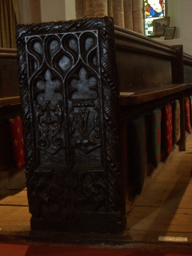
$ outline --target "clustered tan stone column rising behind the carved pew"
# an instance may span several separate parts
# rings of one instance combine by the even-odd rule
[[[111,16],[114,23],[144,33],[143,0],[75,0],[76,17]]]

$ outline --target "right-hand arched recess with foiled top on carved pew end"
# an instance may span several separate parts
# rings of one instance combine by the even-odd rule
[[[72,77],[72,87],[77,89],[69,100],[72,145],[88,154],[100,146],[98,81],[83,67]],[[84,98],[88,94],[90,98]]]

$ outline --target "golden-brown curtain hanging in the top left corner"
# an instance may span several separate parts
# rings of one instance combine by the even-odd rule
[[[16,48],[15,26],[19,23],[17,0],[0,0],[0,47]]]

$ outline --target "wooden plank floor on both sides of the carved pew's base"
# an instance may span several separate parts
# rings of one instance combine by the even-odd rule
[[[127,229],[121,235],[30,230],[26,181],[21,180],[0,190],[0,243],[83,244],[192,255],[191,170],[192,138],[127,214]]]

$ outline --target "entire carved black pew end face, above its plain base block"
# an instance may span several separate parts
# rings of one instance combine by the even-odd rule
[[[17,47],[30,212],[123,216],[112,20],[19,25]]]

